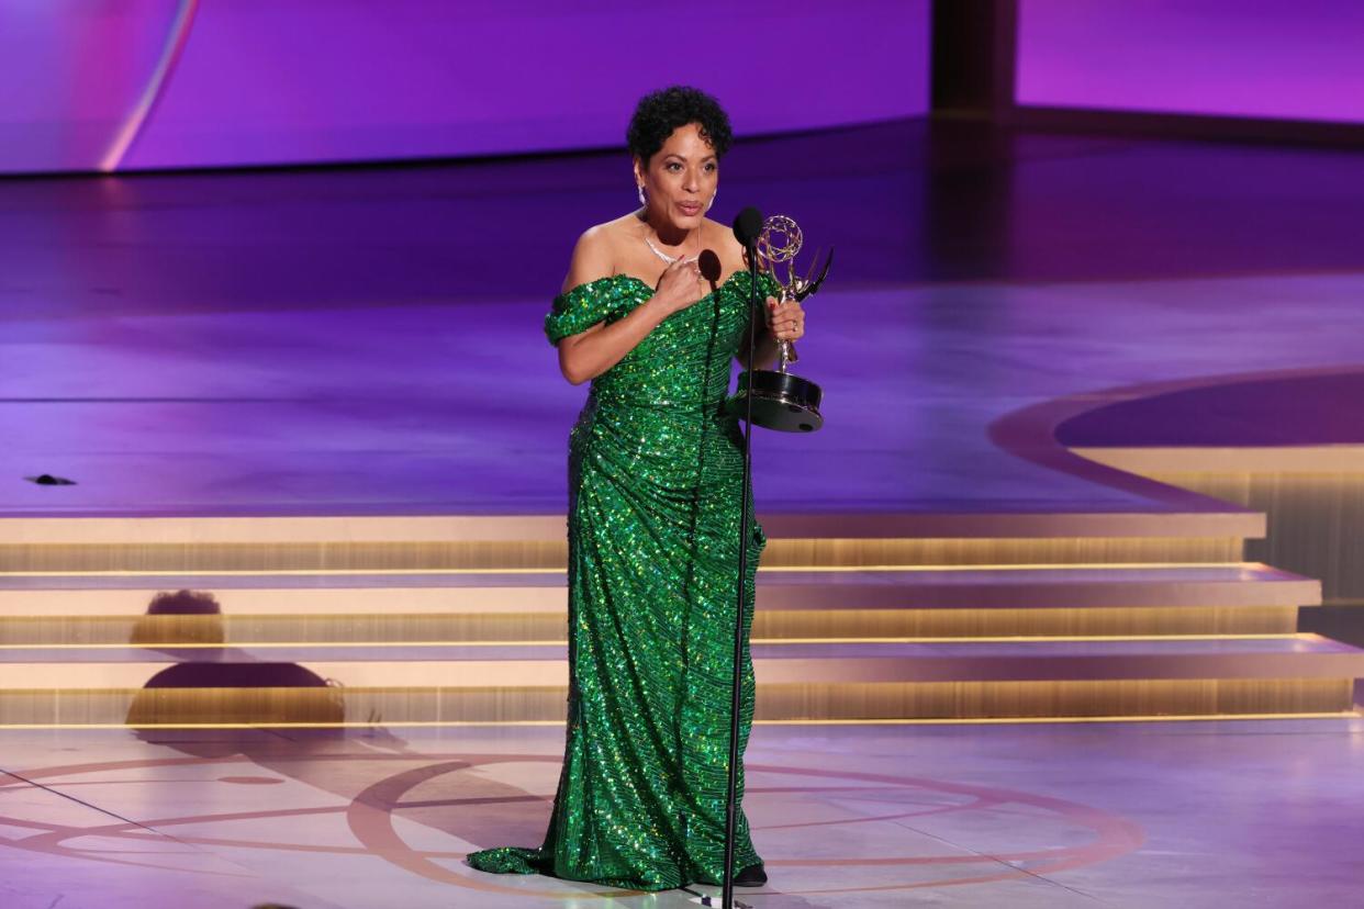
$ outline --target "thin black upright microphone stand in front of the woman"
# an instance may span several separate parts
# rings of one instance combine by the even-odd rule
[[[761,215],[758,215],[761,225]],[[743,249],[749,258],[749,356],[747,368],[753,369],[758,334],[758,256],[756,236],[743,237]],[[739,710],[743,706],[743,606],[745,582],[749,576],[749,492],[753,488],[753,394],[743,395],[743,484],[739,492],[739,583],[734,609],[734,680],[730,698],[730,775],[724,795],[724,878],[720,890],[720,905],[735,909],[734,904],[734,827],[737,820],[735,795],[739,780]],[[713,906],[709,897],[701,898],[701,905]]]

